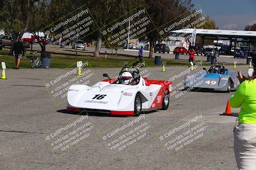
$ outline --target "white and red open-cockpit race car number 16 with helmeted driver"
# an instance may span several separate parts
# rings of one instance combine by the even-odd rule
[[[125,66],[118,76],[99,81],[92,87],[72,85],[67,94],[68,111],[96,111],[111,115],[140,115],[141,111],[169,106],[172,81],[148,80],[137,67]]]

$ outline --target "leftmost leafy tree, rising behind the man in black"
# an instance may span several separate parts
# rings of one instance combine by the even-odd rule
[[[13,45],[27,31],[36,0],[3,0],[0,11],[1,27],[12,34],[9,55],[13,55]]]

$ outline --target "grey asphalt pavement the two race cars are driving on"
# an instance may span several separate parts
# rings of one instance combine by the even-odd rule
[[[237,69],[246,73],[248,66]],[[150,79],[173,80],[168,110],[140,117],[72,114],[65,110],[65,96],[54,97],[45,87],[70,69],[6,70],[8,80],[0,80],[1,169],[236,169],[232,129],[237,117],[220,115],[234,92],[182,90],[186,66],[142,70]],[[113,76],[120,69],[86,71],[93,73],[92,85],[102,73]],[[79,140],[62,143],[72,135]]]

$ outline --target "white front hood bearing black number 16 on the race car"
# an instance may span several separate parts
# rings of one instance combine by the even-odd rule
[[[101,81],[92,87],[72,85],[68,90],[67,102],[74,108],[97,110],[133,110],[130,103],[138,87],[131,85],[109,84]]]

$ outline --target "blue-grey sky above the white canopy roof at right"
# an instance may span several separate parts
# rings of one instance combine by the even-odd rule
[[[202,6],[219,29],[243,30],[256,23],[256,0],[192,0]]]

